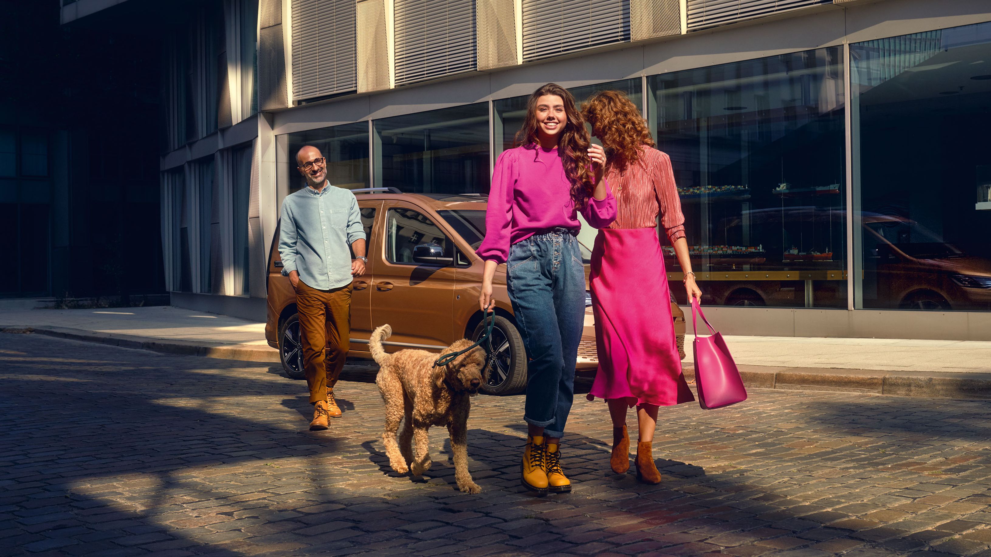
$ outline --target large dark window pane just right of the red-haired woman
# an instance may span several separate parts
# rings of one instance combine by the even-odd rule
[[[706,302],[846,306],[840,52],[649,78],[650,125],[671,157]]]

